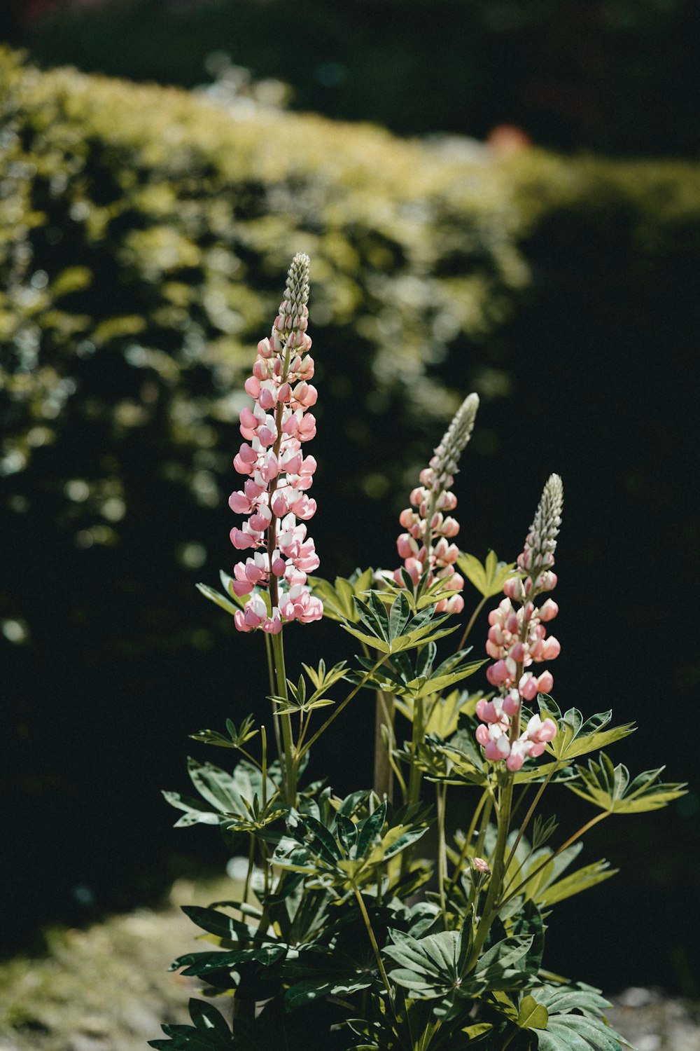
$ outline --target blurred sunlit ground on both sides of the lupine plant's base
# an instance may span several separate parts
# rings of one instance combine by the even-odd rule
[[[179,881],[171,901],[204,905],[230,892],[230,881]],[[203,947],[194,932],[174,905],[50,932],[46,956],[0,964],[0,1051],[145,1051],[162,1022],[188,1021],[196,989],[167,967]],[[637,1051],[700,1051],[700,1005],[649,989],[611,998],[610,1022]]]

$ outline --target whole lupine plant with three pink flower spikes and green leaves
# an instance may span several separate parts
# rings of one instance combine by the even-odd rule
[[[545,931],[558,902],[613,874],[604,861],[576,866],[586,831],[683,786],[613,764],[604,749],[632,724],[552,697],[561,479],[545,482],[514,562],[462,552],[451,488],[479,408],[470,394],[401,514],[401,564],[316,576],[307,300],[297,254],[246,382],[245,480],[229,501],[245,516],[231,531],[239,560],[221,574],[225,594],[199,585],[251,635],[251,662],[267,659],[270,717],[234,713],[226,731],[194,734],[238,762],[229,772],[190,760],[199,799],[166,792],[177,825],[217,825],[232,852],[247,843],[247,875],[235,900],[185,909],[210,947],[172,968],[206,998],[190,1002],[191,1026],[164,1026],[151,1046],[619,1051],[600,992],[546,969]],[[465,577],[482,596],[473,611]],[[486,605],[484,655],[473,636]],[[288,625],[321,617],[347,634],[351,656],[293,663]],[[305,631],[292,628],[295,648]],[[339,718],[363,720],[375,742],[374,786],[344,798],[304,778]],[[542,811],[553,785],[591,805],[581,827],[561,832]]]

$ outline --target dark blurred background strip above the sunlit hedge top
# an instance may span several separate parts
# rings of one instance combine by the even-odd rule
[[[559,149],[700,147],[696,0],[4,0],[3,11],[4,38],[48,64],[191,87],[224,50],[291,84],[295,108],[401,135],[484,138],[508,123]]]

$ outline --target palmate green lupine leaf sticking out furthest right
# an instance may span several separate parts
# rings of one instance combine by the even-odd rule
[[[630,781],[630,771],[619,763],[613,766],[612,760],[601,751],[599,762],[590,759],[588,768],[576,766],[576,778],[568,781],[567,788],[593,803],[608,813],[642,813],[645,810],[659,810],[675,799],[686,792],[686,786],[679,782],[659,781],[665,767],[655,770],[644,770],[634,781]]]

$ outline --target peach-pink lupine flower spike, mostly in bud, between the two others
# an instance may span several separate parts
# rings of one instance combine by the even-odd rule
[[[452,418],[434,454],[420,474],[420,486],[410,494],[410,508],[401,512],[399,521],[406,530],[397,539],[399,555],[413,583],[428,572],[428,584],[440,580],[445,591],[454,592],[441,599],[438,613],[461,613],[464,599],[459,594],[464,579],[454,571],[460,549],[450,540],[460,532],[459,522],[449,514],[457,507],[450,492],[462,452],[471,436],[479,408],[479,396],[469,394]],[[403,586],[401,570],[394,579]]]

